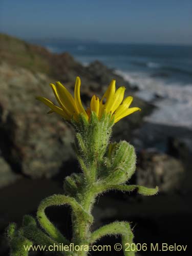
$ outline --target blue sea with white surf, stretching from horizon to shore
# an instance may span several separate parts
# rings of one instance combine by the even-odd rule
[[[44,46],[55,53],[67,51],[85,66],[99,60],[113,68],[139,88],[138,97],[158,106],[147,121],[192,126],[192,46],[76,41]]]

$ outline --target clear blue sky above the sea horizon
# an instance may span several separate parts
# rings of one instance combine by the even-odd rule
[[[0,31],[21,38],[192,44],[191,0],[1,0]]]

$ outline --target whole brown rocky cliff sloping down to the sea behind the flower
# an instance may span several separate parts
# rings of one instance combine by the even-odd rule
[[[73,159],[71,127],[59,116],[47,115],[48,108],[35,99],[41,95],[54,101],[50,82],[60,80],[72,91],[75,77],[80,76],[85,105],[93,93],[101,95],[111,79],[116,79],[117,86],[126,86],[127,94],[134,92],[128,82],[98,61],[83,67],[68,53],[53,54],[4,34],[0,40],[1,187],[22,176],[52,177]],[[133,128],[153,109],[138,98],[133,105],[142,112],[116,125],[117,139],[130,140]]]

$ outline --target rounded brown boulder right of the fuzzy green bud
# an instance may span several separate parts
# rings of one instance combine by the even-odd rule
[[[184,176],[182,163],[166,154],[142,151],[138,158],[136,183],[147,187],[159,186],[161,192],[180,188]]]

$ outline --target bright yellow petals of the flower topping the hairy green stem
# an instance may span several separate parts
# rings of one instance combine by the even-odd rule
[[[79,77],[76,78],[74,97],[60,82],[56,82],[56,84],[51,83],[50,86],[59,106],[56,106],[49,99],[44,97],[37,97],[37,99],[49,106],[51,110],[48,113],[55,112],[69,121],[72,118],[74,118],[75,121],[78,121],[79,114],[83,114],[84,117],[89,120],[91,111],[94,111],[98,118],[104,113],[111,114],[116,123],[121,118],[141,110],[140,108],[129,108],[133,101],[133,97],[129,96],[123,100],[125,87],[120,87],[115,90],[115,80],[111,81],[100,101],[98,97],[93,95],[90,108],[87,110],[84,110],[81,103]]]

